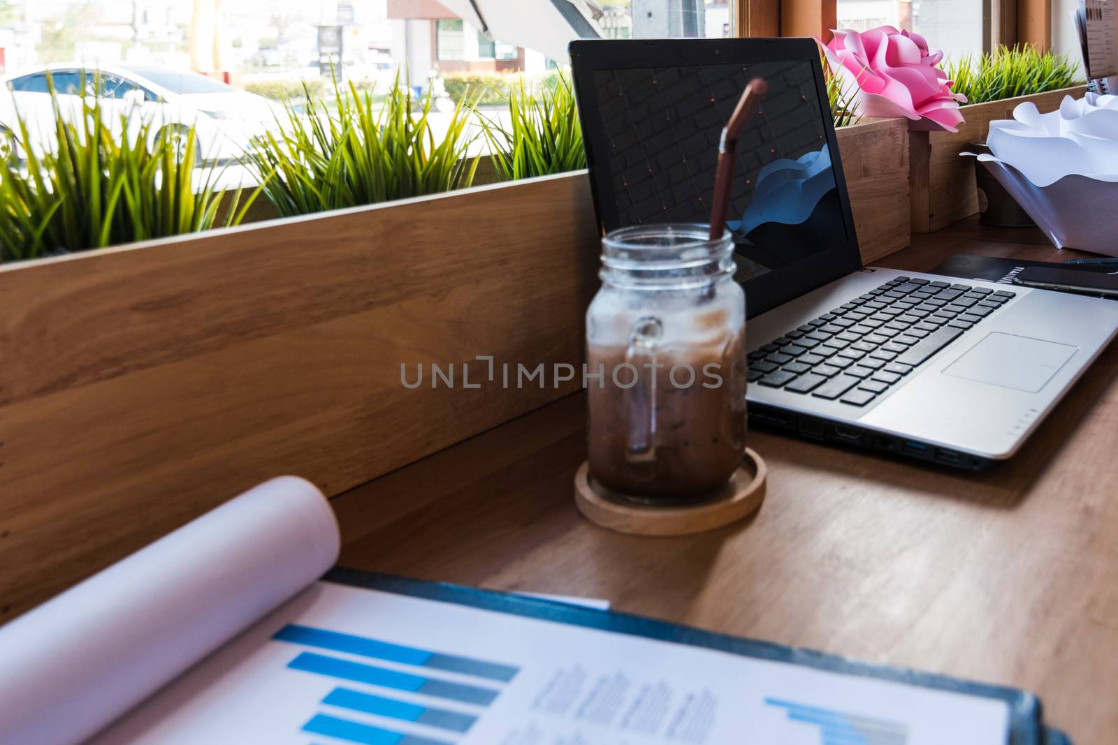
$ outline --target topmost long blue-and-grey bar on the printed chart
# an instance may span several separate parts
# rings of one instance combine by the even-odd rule
[[[455,657],[439,652],[429,652],[423,649],[394,644],[377,639],[357,637],[339,631],[328,631],[306,625],[288,624],[280,629],[273,637],[276,641],[287,641],[293,644],[304,647],[316,647],[329,649],[334,652],[345,652],[359,657],[370,657],[389,662],[401,665],[414,665],[416,667],[427,667],[449,672],[461,672],[479,678],[509,682],[520,671],[520,668],[500,662],[486,662],[468,657]]]

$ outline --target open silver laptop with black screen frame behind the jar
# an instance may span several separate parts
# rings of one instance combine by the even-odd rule
[[[721,128],[751,78],[769,85],[727,223],[752,422],[978,470],[1118,332],[1112,300],[863,268],[813,40],[581,40],[570,57],[605,231],[708,221]]]

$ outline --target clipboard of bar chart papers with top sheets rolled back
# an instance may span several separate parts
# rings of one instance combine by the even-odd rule
[[[305,481],[271,481],[0,628],[0,743],[1043,742],[1036,700],[1008,688],[328,572],[329,509]]]

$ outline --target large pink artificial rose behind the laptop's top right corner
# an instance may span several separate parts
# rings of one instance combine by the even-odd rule
[[[948,132],[963,123],[951,82],[937,65],[944,52],[928,51],[919,34],[892,26],[869,31],[836,29],[823,48],[844,90],[853,92],[855,111],[863,116],[904,116]]]

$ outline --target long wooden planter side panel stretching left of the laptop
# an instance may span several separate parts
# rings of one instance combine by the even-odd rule
[[[0,268],[0,621],[266,478],[337,494],[575,390],[462,363],[581,362],[586,182]]]

